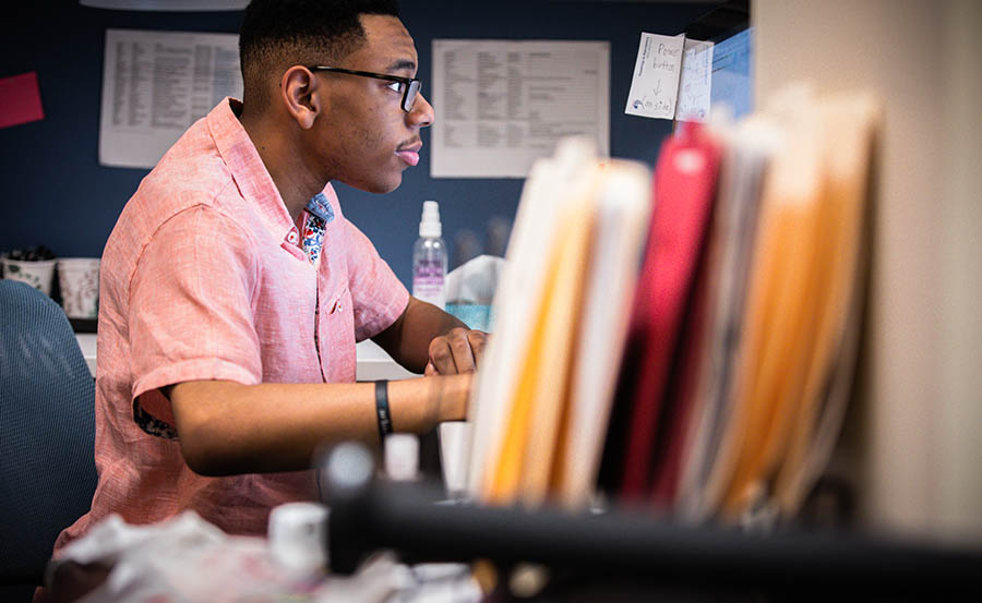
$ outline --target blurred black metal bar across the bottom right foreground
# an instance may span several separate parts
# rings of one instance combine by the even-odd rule
[[[438,505],[421,486],[328,478],[332,569],[388,548],[407,563],[538,563],[597,579],[865,600],[982,600],[982,552],[855,533],[761,535],[648,515]],[[801,589],[805,590],[802,591]]]

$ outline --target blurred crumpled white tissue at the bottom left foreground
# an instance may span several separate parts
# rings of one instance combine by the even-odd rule
[[[77,603],[382,603],[416,582],[392,555],[350,577],[297,574],[277,562],[266,539],[226,534],[194,511],[149,526],[109,516],[49,565],[49,588],[67,562],[110,568]]]

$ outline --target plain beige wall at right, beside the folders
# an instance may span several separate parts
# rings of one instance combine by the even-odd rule
[[[866,343],[840,463],[873,524],[982,536],[982,4],[757,0],[756,97],[884,100]]]

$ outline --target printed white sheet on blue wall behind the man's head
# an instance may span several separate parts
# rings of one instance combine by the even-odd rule
[[[196,119],[242,97],[239,36],[107,29],[99,164],[152,168]]]

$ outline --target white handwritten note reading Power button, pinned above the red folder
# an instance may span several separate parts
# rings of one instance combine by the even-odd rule
[[[709,114],[712,43],[685,34],[643,33],[624,112],[654,119],[704,120]]]

